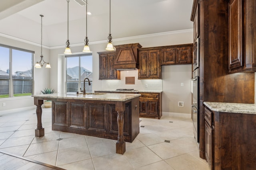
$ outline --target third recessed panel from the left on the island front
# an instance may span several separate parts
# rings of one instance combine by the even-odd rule
[[[88,103],[88,130],[106,131],[106,104]]]

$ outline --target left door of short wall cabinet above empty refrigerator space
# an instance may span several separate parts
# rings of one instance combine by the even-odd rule
[[[176,48],[162,49],[163,65],[175,64],[176,62]]]

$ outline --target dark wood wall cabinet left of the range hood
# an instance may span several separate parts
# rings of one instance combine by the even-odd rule
[[[120,71],[114,69],[116,52],[98,52],[99,54],[99,80],[120,80]]]

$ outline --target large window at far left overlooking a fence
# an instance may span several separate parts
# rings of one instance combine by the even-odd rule
[[[0,98],[33,94],[34,52],[0,45]]]

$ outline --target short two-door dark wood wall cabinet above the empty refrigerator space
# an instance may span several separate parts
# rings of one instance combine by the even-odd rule
[[[193,44],[171,45],[161,47],[161,65],[191,64]]]

